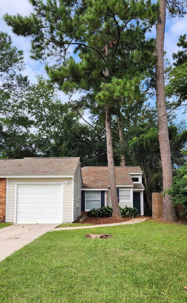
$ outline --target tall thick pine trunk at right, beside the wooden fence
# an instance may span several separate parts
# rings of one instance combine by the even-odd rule
[[[162,161],[163,192],[171,187],[172,162],[169,145],[168,122],[166,115],[166,97],[164,83],[164,32],[166,24],[166,1],[160,0],[159,17],[156,25],[156,104],[158,113],[158,138]],[[164,116],[165,115],[165,116]],[[162,118],[161,118],[162,117]],[[175,210],[169,195],[163,197],[163,220],[175,221]]]

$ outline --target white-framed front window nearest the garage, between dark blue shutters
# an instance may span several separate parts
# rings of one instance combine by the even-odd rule
[[[85,211],[93,208],[100,208],[101,192],[100,191],[85,191]]]

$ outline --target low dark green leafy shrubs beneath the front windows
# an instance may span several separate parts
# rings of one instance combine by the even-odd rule
[[[125,208],[121,208],[120,207],[120,211],[121,211],[121,215],[123,218],[125,217],[131,217],[131,218],[135,218],[138,210],[135,207],[125,207]],[[103,206],[102,208],[93,208],[90,211],[87,212],[87,216],[88,217],[112,217],[112,208],[110,206]]]

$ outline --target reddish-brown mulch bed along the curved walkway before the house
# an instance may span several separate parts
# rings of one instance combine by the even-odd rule
[[[136,217],[136,218],[142,218],[142,217]],[[116,217],[107,217],[107,218],[94,218],[94,217],[87,217],[84,221],[82,221],[82,224],[110,224],[110,223],[119,223],[119,222],[125,222],[130,221],[133,218],[116,218]],[[74,223],[80,223],[78,220],[74,221]]]

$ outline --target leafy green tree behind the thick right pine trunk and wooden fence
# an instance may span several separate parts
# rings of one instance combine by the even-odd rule
[[[186,159],[181,149],[186,147],[187,130],[179,131],[170,125],[169,141],[171,146],[172,169],[184,165]],[[126,147],[127,164],[140,165],[143,170],[147,203],[152,208],[152,192],[162,191],[162,167],[159,150],[158,129],[145,130],[144,134],[130,140]]]

